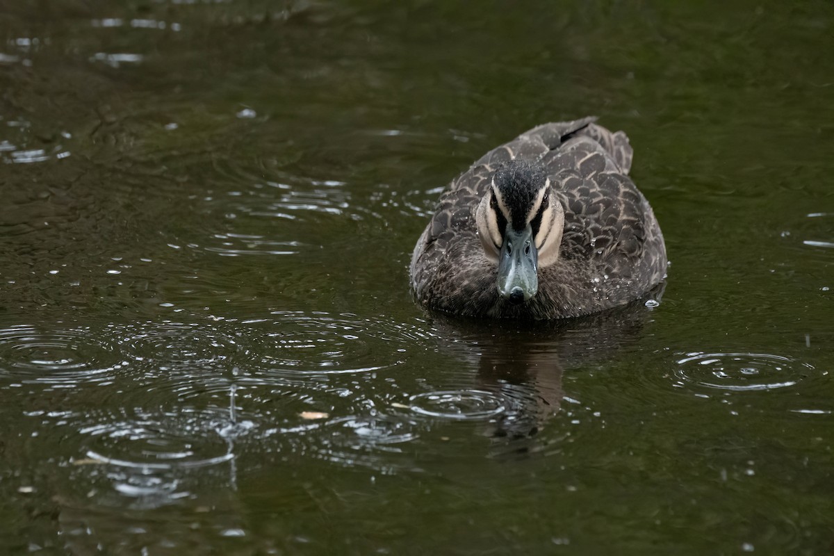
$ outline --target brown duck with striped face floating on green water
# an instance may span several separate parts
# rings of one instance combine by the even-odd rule
[[[666,280],[660,225],[629,177],[629,139],[596,119],[532,128],[450,183],[409,265],[423,308],[575,318],[636,301]]]

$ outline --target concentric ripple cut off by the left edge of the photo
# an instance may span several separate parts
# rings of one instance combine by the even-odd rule
[[[118,345],[89,328],[0,330],[0,377],[69,388],[112,380],[127,365]]]

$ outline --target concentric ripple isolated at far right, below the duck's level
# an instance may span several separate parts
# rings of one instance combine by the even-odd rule
[[[770,353],[687,353],[677,364],[676,387],[725,393],[791,388],[813,370]]]

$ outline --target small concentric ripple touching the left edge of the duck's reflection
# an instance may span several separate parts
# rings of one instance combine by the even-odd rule
[[[478,421],[504,413],[505,400],[486,390],[447,390],[414,394],[411,411],[435,418]]]

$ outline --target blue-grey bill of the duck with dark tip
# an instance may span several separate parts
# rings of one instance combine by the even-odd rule
[[[504,234],[498,260],[498,291],[511,303],[524,303],[539,291],[539,253],[533,230],[527,226],[517,232],[510,226]]]

